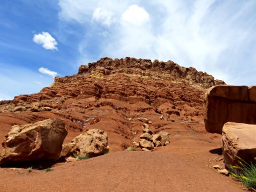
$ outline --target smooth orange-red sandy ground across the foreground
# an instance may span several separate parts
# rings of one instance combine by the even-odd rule
[[[236,180],[212,168],[220,138],[183,140],[154,152],[109,152],[59,163],[52,171],[0,168],[0,191],[243,191]]]

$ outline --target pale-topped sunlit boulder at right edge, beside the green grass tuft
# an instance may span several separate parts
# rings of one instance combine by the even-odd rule
[[[256,125],[227,122],[222,130],[222,149],[226,166],[238,163],[238,158],[256,162]]]

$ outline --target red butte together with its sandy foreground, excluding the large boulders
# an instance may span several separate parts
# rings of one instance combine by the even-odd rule
[[[173,61],[102,58],[81,65],[74,76],[56,77],[39,93],[0,101],[0,141],[16,124],[61,118],[64,143],[89,129],[108,132],[109,153],[54,171],[0,168],[0,191],[243,191],[224,167],[221,135],[205,131],[203,102],[214,80]],[[170,143],[152,152],[129,152],[147,118],[152,132],[166,131]],[[3,148],[0,147],[2,150]]]

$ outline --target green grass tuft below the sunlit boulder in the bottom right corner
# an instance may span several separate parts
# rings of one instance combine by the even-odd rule
[[[230,166],[232,172],[230,175],[237,180],[240,180],[246,188],[256,188],[256,164],[252,162],[246,163],[240,157],[237,157],[239,165]]]

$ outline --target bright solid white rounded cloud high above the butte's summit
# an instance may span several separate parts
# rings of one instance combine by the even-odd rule
[[[141,26],[150,20],[148,12],[136,4],[129,6],[123,13],[122,24],[133,24],[135,26]]]

